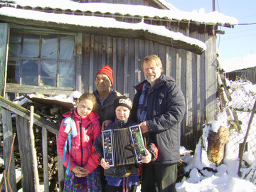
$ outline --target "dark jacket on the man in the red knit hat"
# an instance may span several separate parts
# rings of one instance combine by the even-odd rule
[[[93,92],[93,94],[96,95],[95,92]],[[100,121],[101,125],[102,125],[102,122],[104,122],[107,119],[111,119],[112,121],[114,121],[114,118],[115,118],[114,100],[120,96],[122,96],[122,94],[117,92],[116,90],[114,90],[114,93],[110,96],[110,98],[108,98],[107,102],[102,107],[100,105],[100,101],[97,100],[97,104],[93,111],[95,111],[97,114],[99,114],[99,116],[100,116],[99,121]]]

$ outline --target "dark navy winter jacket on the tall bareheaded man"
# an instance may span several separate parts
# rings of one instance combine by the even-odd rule
[[[135,88],[131,119],[137,122],[137,108],[142,87]],[[180,161],[181,121],[186,110],[185,98],[174,78],[161,75],[148,92],[146,124],[159,156],[153,164],[176,164]]]

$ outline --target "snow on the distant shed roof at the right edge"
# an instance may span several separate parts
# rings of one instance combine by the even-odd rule
[[[255,67],[256,53],[220,62],[220,68],[222,68],[225,71],[225,73]]]

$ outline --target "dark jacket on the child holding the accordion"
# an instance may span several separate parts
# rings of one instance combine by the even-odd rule
[[[105,127],[105,130],[108,129],[119,129],[119,128],[124,128],[124,127],[130,127],[132,125],[135,125],[131,120],[127,119],[125,121],[120,121],[119,119],[115,119],[115,121]],[[103,155],[103,148],[102,148],[102,134],[100,134],[96,140],[95,144],[93,145],[93,151],[94,151],[94,158],[97,160],[98,164],[100,164],[100,160],[104,157]],[[152,159],[151,161],[154,161],[157,158],[157,149],[155,145],[149,140],[148,144],[146,145],[146,149],[149,150],[151,153]],[[127,174],[127,171],[129,169],[129,165],[127,166],[115,166],[111,167],[110,169],[105,170],[105,176],[124,176]],[[111,170],[111,171],[110,171]],[[116,175],[114,175],[114,174]],[[140,166],[133,166],[132,167],[132,173],[129,176],[138,176],[140,175]]]

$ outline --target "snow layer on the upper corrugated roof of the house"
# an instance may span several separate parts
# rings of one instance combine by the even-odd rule
[[[13,0],[14,1],[14,0]],[[160,1],[159,1],[160,2]],[[163,4],[167,4],[161,0]],[[205,14],[204,11],[186,12],[179,11],[173,7],[171,10],[156,9],[151,6],[129,5],[129,4],[107,4],[107,3],[78,3],[70,0],[16,0],[16,6],[26,7],[30,6],[32,9],[41,7],[42,9],[63,9],[72,11],[90,11],[100,12],[102,14],[121,14],[130,16],[145,16],[151,18],[165,18],[177,21],[193,21],[198,23],[212,23],[220,26],[234,26],[238,24],[236,18],[225,16],[216,11]]]

